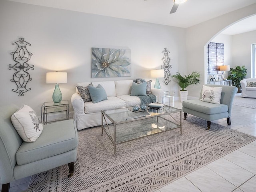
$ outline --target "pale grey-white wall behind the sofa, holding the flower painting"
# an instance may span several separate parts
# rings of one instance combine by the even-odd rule
[[[136,22],[81,12],[73,12],[42,6],[0,1],[0,104],[27,104],[40,114],[43,102],[52,100],[54,84],[46,84],[46,72],[68,72],[68,83],[60,84],[62,99],[70,100],[77,82],[150,79],[150,69],[160,69],[164,48],[170,51],[171,73],[184,71],[186,67],[186,30],[171,26]],[[28,71],[32,78],[24,96],[12,92],[16,88],[10,81],[14,64],[10,55],[12,45],[23,37],[31,46]],[[132,52],[132,76],[118,78],[91,78],[91,48],[126,48]],[[153,80],[153,86],[155,79]],[[172,81],[164,90],[177,92]],[[178,95],[178,94],[177,94]]]

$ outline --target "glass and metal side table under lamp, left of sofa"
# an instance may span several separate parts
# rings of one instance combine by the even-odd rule
[[[48,124],[53,121],[48,121],[47,116],[49,114],[65,112],[66,118],[64,120],[68,120],[69,118],[69,105],[68,100],[62,100],[59,103],[54,102],[44,102],[41,106],[41,119],[43,124]]]

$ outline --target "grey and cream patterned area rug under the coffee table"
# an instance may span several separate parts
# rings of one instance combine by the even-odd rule
[[[67,165],[36,174],[28,192],[151,192],[256,140],[214,123],[206,130],[190,115],[182,124],[182,135],[175,129],[126,142],[116,156],[100,127],[81,130],[74,176],[67,178]]]

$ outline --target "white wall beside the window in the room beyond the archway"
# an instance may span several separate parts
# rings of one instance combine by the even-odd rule
[[[251,45],[256,43],[256,31],[246,32],[232,36],[233,65],[245,66],[246,78],[252,77],[251,70]]]

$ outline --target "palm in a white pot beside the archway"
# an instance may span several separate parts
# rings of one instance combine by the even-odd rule
[[[176,72],[176,75],[172,75],[171,77],[175,78],[178,85],[180,86],[181,90],[180,90],[180,102],[187,100],[188,98],[188,91],[186,90],[186,88],[189,85],[192,84],[198,84],[200,83],[200,73],[193,71],[192,74],[188,74],[187,75],[181,75],[179,72]]]

